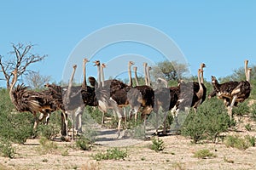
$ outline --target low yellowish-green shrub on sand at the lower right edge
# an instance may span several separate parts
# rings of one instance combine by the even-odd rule
[[[227,147],[233,147],[239,150],[247,150],[247,148],[255,146],[255,137],[247,135],[244,138],[242,138],[238,135],[229,135],[225,138],[224,144]]]

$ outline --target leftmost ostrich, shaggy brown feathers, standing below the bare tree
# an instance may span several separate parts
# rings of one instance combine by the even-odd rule
[[[29,111],[35,118],[34,129],[38,126],[38,122],[41,122],[45,117],[49,116],[50,112],[55,108],[53,99],[46,91],[34,92],[29,90],[24,84],[18,85],[15,88],[17,82],[17,70],[12,72],[14,75],[12,84],[9,89],[9,97],[12,103],[15,105],[17,111],[25,112]],[[37,118],[37,113],[40,112],[43,116]],[[46,121],[47,123],[48,121]]]

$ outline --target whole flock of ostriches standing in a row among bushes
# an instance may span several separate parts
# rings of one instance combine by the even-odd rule
[[[172,111],[174,118],[177,117],[179,111],[185,108],[196,108],[204,102],[207,97],[207,88],[204,85],[203,68],[205,64],[201,64],[198,70],[197,82],[180,81],[177,87],[168,87],[164,79],[159,79],[165,86],[160,88],[152,88],[149,77],[150,67],[144,63],[145,85],[139,85],[137,81],[137,67],[134,68],[135,81],[137,86],[132,85],[131,65],[128,63],[129,84],[125,84],[119,80],[104,80],[103,68],[106,65],[95,61],[97,66],[98,79],[89,77],[90,86],[86,83],[86,63],[88,59],[84,59],[83,72],[84,81],[81,86],[73,86],[73,76],[76,71],[76,65],[73,66],[73,73],[67,87],[57,86],[55,84],[45,84],[47,89],[36,92],[27,88],[24,84],[17,85],[17,70],[13,71],[13,81],[10,87],[9,96],[17,111],[29,111],[35,117],[34,128],[38,126],[44,118],[46,123],[49,121],[50,113],[61,110],[61,134],[67,136],[67,114],[76,116],[76,130],[82,130],[81,113],[84,106],[97,106],[102,111],[102,124],[104,124],[104,114],[108,109],[112,109],[118,117],[118,137],[120,134],[121,121],[126,118],[137,119],[137,114],[141,114],[144,120],[144,128],[148,115],[154,111],[158,113],[160,108],[162,111]],[[217,96],[218,99],[224,101],[224,105],[229,109],[243,102],[250,95],[250,68],[247,68],[248,61],[245,60],[245,75],[247,80],[241,82],[224,82],[219,84],[216,77],[212,77],[213,91],[208,98]],[[124,107],[130,106],[129,114],[125,113]],[[41,115],[37,118],[37,113]],[[75,113],[74,113],[75,112]],[[126,116],[128,115],[128,116]],[[74,123],[74,122],[73,122]],[[74,132],[74,129],[73,129]],[[73,137],[73,133],[72,133]]]

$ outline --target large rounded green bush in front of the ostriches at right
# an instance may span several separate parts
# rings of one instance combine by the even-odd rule
[[[189,136],[194,144],[202,139],[210,139],[215,143],[219,133],[227,131],[230,123],[221,101],[211,99],[201,105],[196,113],[192,110],[189,112],[183,123],[182,134]]]

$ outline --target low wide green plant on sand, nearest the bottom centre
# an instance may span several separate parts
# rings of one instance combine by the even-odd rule
[[[127,150],[119,150],[118,148],[113,148],[107,150],[107,152],[100,152],[97,153],[93,158],[96,161],[102,161],[102,160],[125,160],[125,157],[127,157]]]

